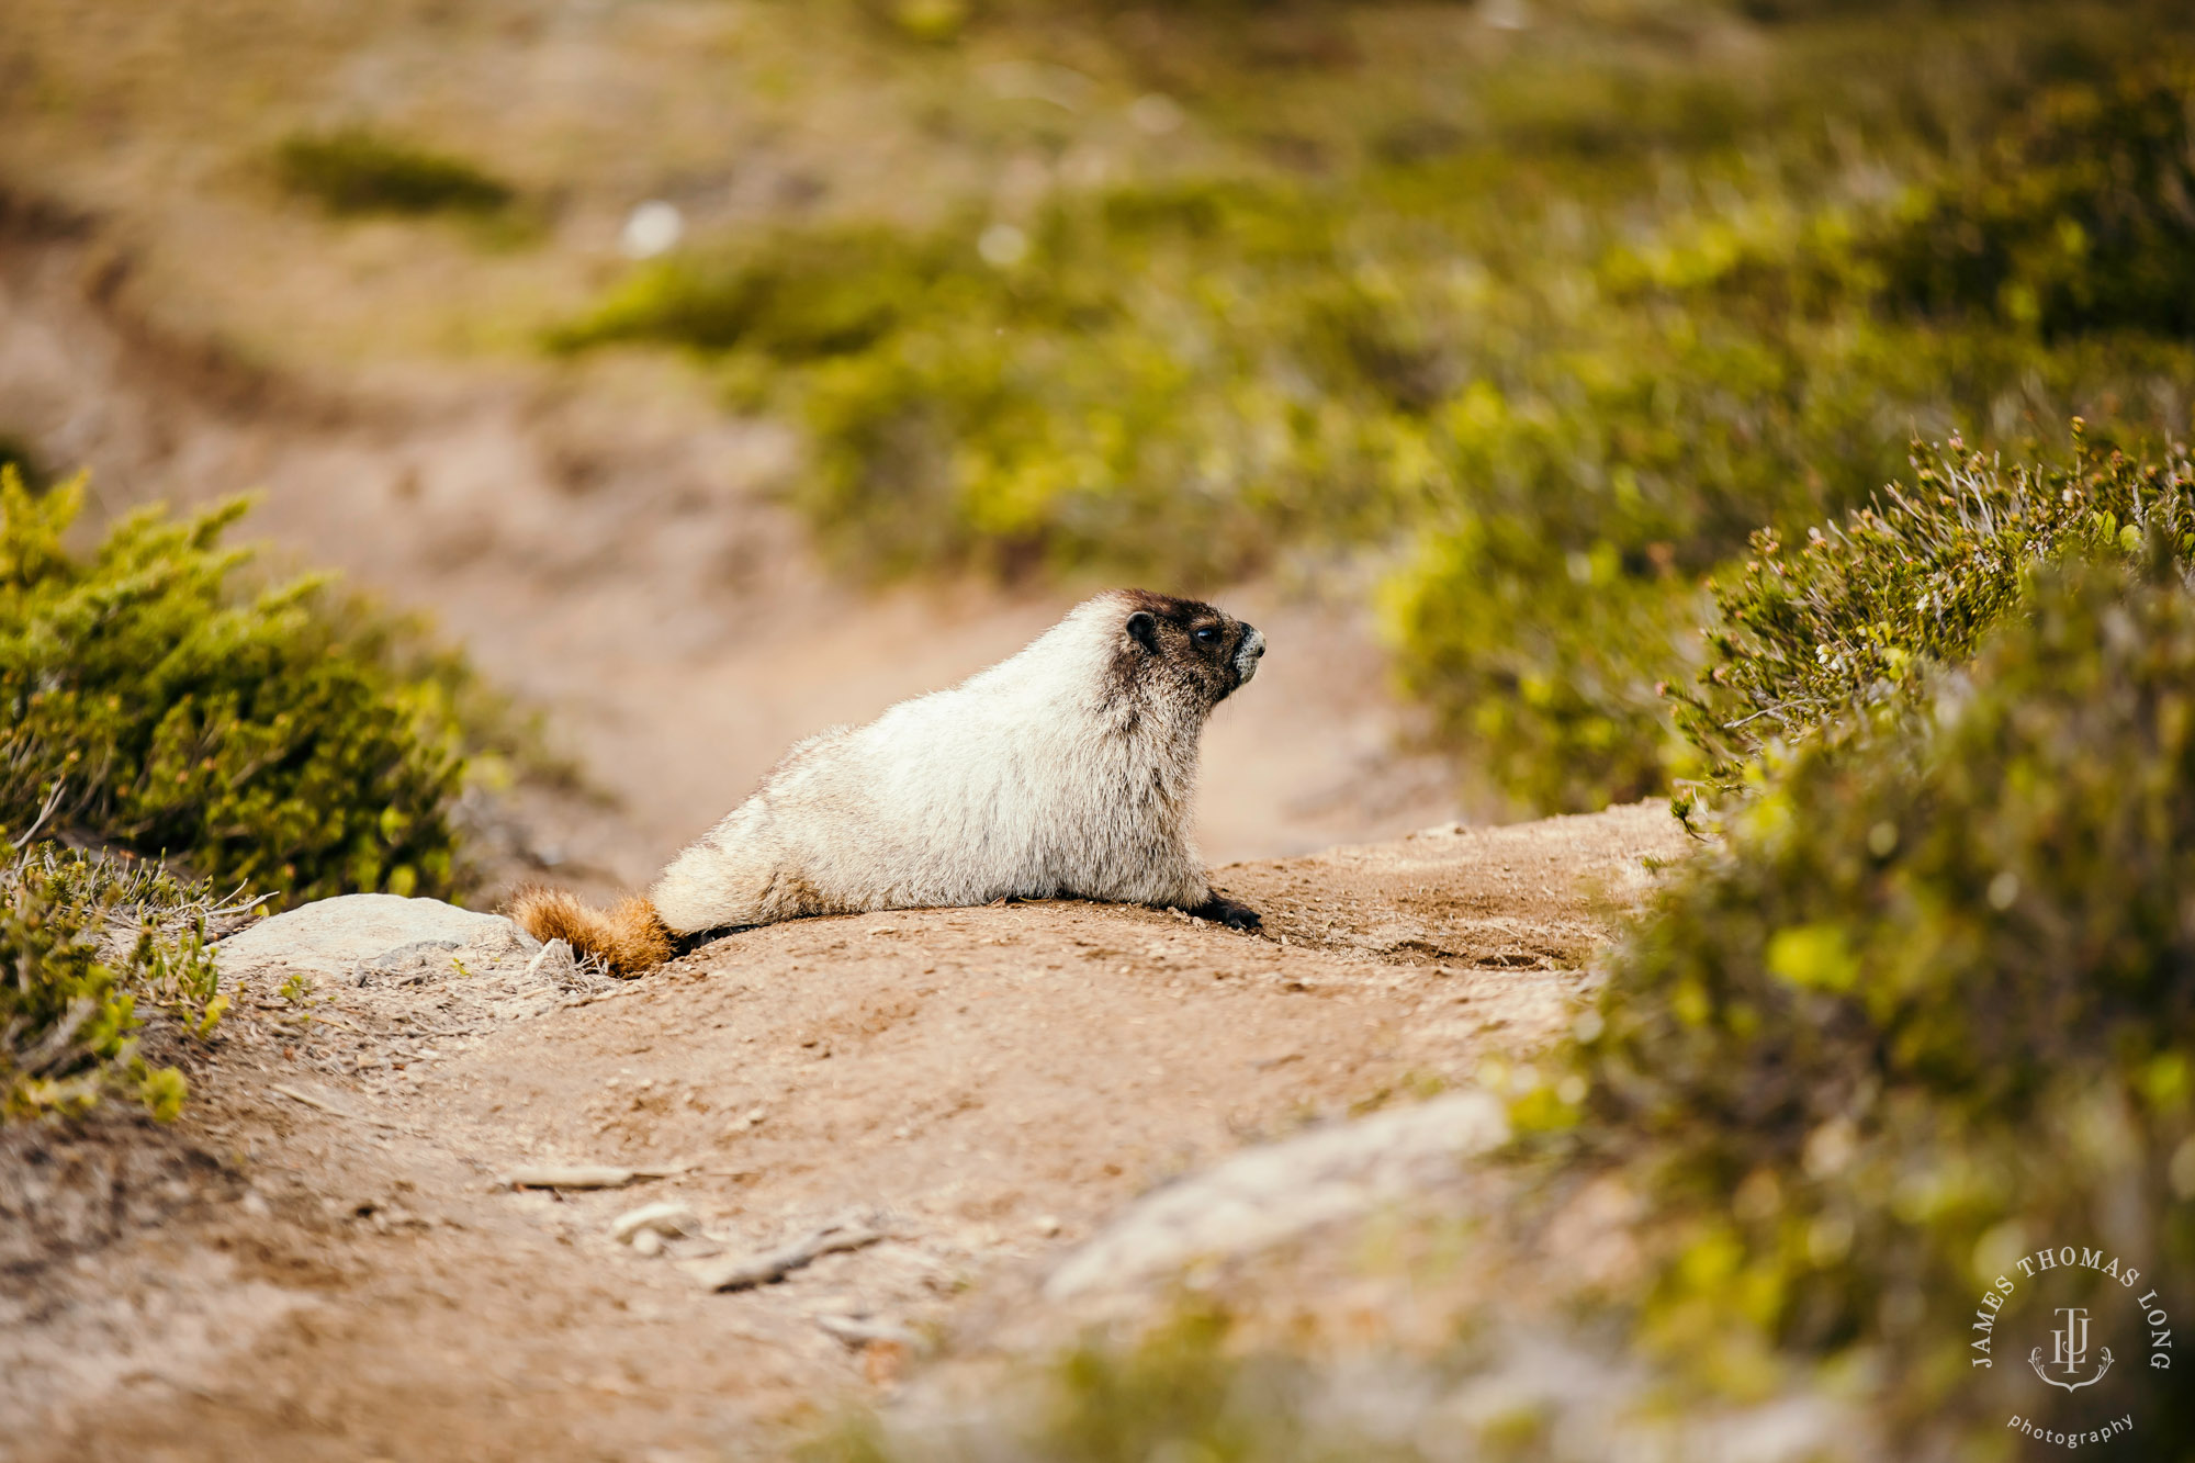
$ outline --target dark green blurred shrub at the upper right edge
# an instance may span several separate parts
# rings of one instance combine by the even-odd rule
[[[2195,72],[2044,94],[1877,246],[1886,288],[2044,334],[2195,336]]]

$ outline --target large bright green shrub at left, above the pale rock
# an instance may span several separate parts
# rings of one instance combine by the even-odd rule
[[[241,503],[134,514],[79,560],[81,499],[0,470],[0,828],[46,813],[290,898],[450,892],[450,674],[316,580],[239,595]]]

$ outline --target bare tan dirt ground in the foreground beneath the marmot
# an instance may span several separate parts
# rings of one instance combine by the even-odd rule
[[[176,1131],[31,1164],[0,1437],[26,1463],[777,1454],[1152,1184],[1541,1046],[1679,841],[1642,804],[1220,870],[1264,936],[1084,903],[799,920],[586,1004],[323,982],[301,1021],[252,973]],[[189,1182],[116,1182],[149,1208],[90,1224],[64,1199],[116,1153]],[[551,1160],[676,1173],[498,1182]],[[654,1199],[705,1237],[617,1243]],[[685,1270],[847,1215],[887,1237],[781,1285]]]

